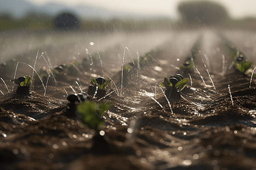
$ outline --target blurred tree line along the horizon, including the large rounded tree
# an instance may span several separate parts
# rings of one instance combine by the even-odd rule
[[[183,1],[177,5],[181,21],[170,18],[151,19],[82,19],[73,12],[61,12],[56,16],[29,11],[23,18],[14,18],[8,13],[0,13],[0,31],[11,29],[84,31],[145,31],[154,29],[180,29],[189,26],[221,25],[228,28],[255,29],[256,19],[234,20],[222,5],[212,1]]]

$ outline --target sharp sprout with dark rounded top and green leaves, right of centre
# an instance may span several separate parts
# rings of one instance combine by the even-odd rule
[[[162,87],[166,88],[165,94],[171,102],[177,102],[180,99],[180,91],[188,84],[188,79],[184,79],[180,74],[164,77],[164,82],[160,82]]]

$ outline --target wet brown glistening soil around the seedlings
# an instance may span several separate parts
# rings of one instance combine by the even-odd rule
[[[119,85],[104,99],[95,99],[111,102],[100,129],[104,137],[64,114],[65,91],[72,94],[72,86],[80,92],[77,81],[86,92],[90,77],[100,75],[101,67],[94,67],[94,72],[81,69],[82,75],[64,71],[57,75],[57,85],[49,80],[46,92],[35,79],[27,95],[16,94],[16,87],[12,91],[13,84],[7,80],[13,75],[6,74],[10,94],[0,87],[4,93],[0,97],[1,169],[255,169],[255,80],[249,88],[249,75],[235,67],[223,72],[222,54],[224,67],[232,63],[224,40],[219,37],[212,46],[220,48],[210,56],[216,61],[208,66],[212,81],[201,59],[195,61],[195,68],[203,79],[196,69],[188,74],[170,68],[166,56],[171,54],[163,50],[154,53],[161,65],[150,65],[147,81],[141,79],[136,86],[123,82],[122,88]],[[204,53],[202,49],[199,58]],[[184,61],[185,56],[180,59]],[[109,66],[108,70],[121,69]],[[118,84],[119,73],[113,73]],[[189,83],[181,99],[168,104],[155,83],[175,73]]]

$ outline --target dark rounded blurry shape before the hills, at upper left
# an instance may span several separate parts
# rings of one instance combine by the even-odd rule
[[[54,20],[55,29],[67,30],[67,29],[78,29],[79,19],[73,14],[64,12],[58,15]]]

